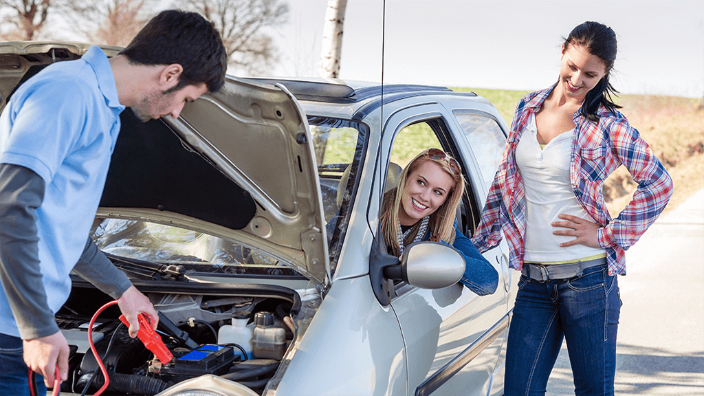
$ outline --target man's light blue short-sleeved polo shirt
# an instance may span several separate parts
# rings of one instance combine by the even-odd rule
[[[90,47],[27,80],[0,116],[0,163],[30,168],[46,184],[36,211],[38,250],[54,312],[68,299],[68,274],[98,209],[124,109],[108,57]],[[0,333],[20,335],[1,285]]]

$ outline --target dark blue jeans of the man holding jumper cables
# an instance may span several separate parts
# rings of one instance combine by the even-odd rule
[[[22,358],[22,339],[0,334],[0,395],[29,396],[27,365]],[[46,395],[44,377],[36,374],[37,395]]]

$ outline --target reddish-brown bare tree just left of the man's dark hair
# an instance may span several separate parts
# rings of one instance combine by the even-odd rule
[[[126,47],[149,20],[156,0],[73,0],[62,8],[89,42]]]

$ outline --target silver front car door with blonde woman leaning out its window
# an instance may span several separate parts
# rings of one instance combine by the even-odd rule
[[[395,111],[385,123],[378,168],[386,169],[389,162],[398,161],[392,158],[394,145],[439,144],[462,163],[471,199],[465,202],[470,207],[464,210],[471,214],[470,218],[478,218],[481,204],[472,186],[482,183],[482,179],[474,161],[467,160],[472,154],[459,152],[466,144],[451,117],[443,106],[432,101]],[[449,125],[455,128],[451,130]],[[399,132],[409,126],[420,129],[411,134],[420,143],[397,140]],[[434,136],[427,136],[428,132],[422,130],[432,130]],[[391,307],[406,345],[410,395],[479,395],[490,388],[494,373],[501,366],[503,335],[508,326],[505,271],[500,257],[497,260],[495,255],[496,252],[484,255],[500,277],[493,295],[479,297],[460,283],[441,290],[423,290],[405,283],[394,285],[396,296],[391,299]]]

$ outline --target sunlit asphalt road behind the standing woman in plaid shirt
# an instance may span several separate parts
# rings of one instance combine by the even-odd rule
[[[616,394],[704,395],[704,190],[660,216],[626,262]],[[564,343],[547,395],[574,395]]]

